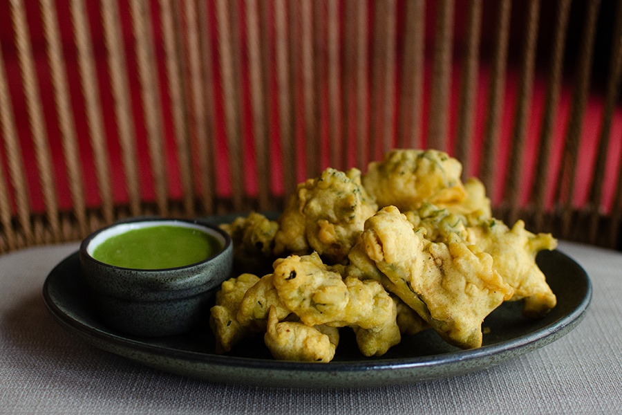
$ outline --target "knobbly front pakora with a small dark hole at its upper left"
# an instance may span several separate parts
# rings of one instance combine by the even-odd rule
[[[399,342],[397,308],[376,281],[341,279],[319,255],[292,255],[274,263],[274,286],[283,304],[308,326],[350,326],[361,353],[380,356]]]

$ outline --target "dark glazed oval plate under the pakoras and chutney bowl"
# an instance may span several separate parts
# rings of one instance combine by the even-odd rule
[[[504,303],[484,320],[479,349],[449,346],[431,330],[404,336],[381,358],[365,358],[348,329],[342,330],[330,363],[276,361],[261,338],[226,355],[214,353],[214,337],[205,326],[168,338],[135,338],[97,319],[80,277],[77,253],[58,264],[46,279],[44,299],[57,322],[79,338],[163,371],[214,382],[269,387],[376,387],[444,378],[498,365],[543,347],[565,335],[583,317],[592,297],[587,274],[558,250],[540,252],[538,265],[557,295],[558,305],[541,320],[522,317],[520,302]]]

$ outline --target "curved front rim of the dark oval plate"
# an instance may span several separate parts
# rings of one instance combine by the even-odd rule
[[[543,326],[540,329],[536,329],[535,331],[529,332],[525,335],[520,335],[517,338],[513,338],[511,340],[505,340],[502,342],[498,342],[495,344],[484,345],[477,349],[467,349],[467,350],[458,350],[451,351],[448,353],[438,353],[428,356],[413,356],[412,358],[375,358],[373,360],[348,360],[348,361],[332,361],[328,363],[317,363],[317,362],[289,362],[289,361],[279,361],[279,360],[269,360],[269,359],[259,359],[259,358],[246,358],[241,356],[229,356],[229,355],[218,355],[216,353],[201,353],[198,351],[190,351],[183,349],[176,349],[173,347],[167,347],[160,344],[149,343],[147,339],[133,339],[129,337],[125,337],[121,333],[117,334],[113,331],[104,331],[95,326],[91,326],[81,320],[77,320],[72,315],[66,313],[64,307],[57,304],[56,300],[53,298],[53,295],[50,293],[50,285],[53,284],[57,275],[60,273],[60,270],[70,261],[77,261],[78,252],[73,252],[68,257],[65,257],[62,261],[60,261],[53,270],[50,271],[43,286],[43,297],[44,303],[48,311],[53,315],[55,320],[75,335],[78,335],[82,340],[98,347],[100,349],[104,349],[111,353],[117,354],[124,358],[130,358],[131,360],[138,361],[147,366],[154,366],[150,364],[144,358],[132,358],[131,356],[127,356],[126,353],[120,353],[117,348],[126,349],[127,351],[135,351],[137,353],[142,353],[146,356],[155,356],[164,359],[171,359],[176,362],[186,362],[189,364],[200,364],[212,366],[214,368],[222,368],[227,367],[229,369],[242,369],[243,371],[269,371],[281,374],[293,374],[293,373],[305,373],[305,374],[337,374],[343,375],[341,378],[334,378],[332,382],[330,382],[329,387],[351,387],[351,382],[348,380],[351,376],[348,374],[357,374],[357,373],[365,373],[369,374],[370,371],[384,371],[391,370],[396,371],[395,376],[391,376],[391,380],[387,381],[382,378],[381,383],[374,382],[373,376],[367,376],[367,382],[364,386],[379,386],[379,385],[395,385],[402,383],[413,383],[417,380],[428,380],[432,378],[440,378],[440,377],[448,377],[453,375],[459,375],[461,373],[466,373],[467,371],[473,371],[473,367],[477,366],[474,362],[482,359],[489,358],[491,360],[498,360],[494,363],[491,363],[485,367],[491,367],[493,365],[497,365],[500,362],[508,360],[513,357],[518,357],[522,354],[533,351],[534,349],[538,349],[543,347],[551,342],[554,342],[560,337],[563,337],[566,333],[574,329],[574,327],[583,320],[585,316],[585,311],[587,310],[591,299],[592,299],[592,282],[590,280],[589,275],[585,272],[583,267],[578,264],[572,257],[569,257],[565,253],[560,250],[554,250],[552,252],[557,252],[557,255],[561,255],[563,259],[566,261],[571,261],[578,270],[581,270],[581,277],[585,279],[585,295],[579,302],[578,306],[574,308],[571,312],[563,315],[555,322],[548,324],[547,326]],[[498,358],[498,359],[495,359]],[[454,370],[447,371],[448,374],[443,374],[446,366],[450,366],[452,364],[460,363],[462,364],[462,370],[460,368],[455,368]],[[175,370],[171,368],[167,368],[167,364],[155,365],[160,370],[169,371],[170,373],[174,373]],[[422,378],[417,378],[416,374],[411,373],[411,371],[425,370],[425,369],[440,369],[437,375],[439,376],[425,376]],[[482,367],[483,369],[484,367]],[[167,370],[171,369],[171,370]],[[434,371],[433,371],[434,372]],[[182,373],[183,374],[183,373]],[[399,376],[403,374],[404,376]],[[413,376],[415,375],[415,376]],[[434,375],[434,373],[432,374]],[[189,375],[194,378],[200,378],[202,376]],[[227,381],[227,376],[223,376],[222,379],[211,378],[210,380],[214,380],[216,382],[224,382],[230,383],[232,379]],[[379,378],[380,379],[380,378]],[[315,387],[314,382],[305,382],[294,381],[294,382],[280,382],[277,380],[276,382],[263,382],[262,385],[256,385],[256,382],[253,380],[245,380],[245,379],[236,379],[233,381],[234,383],[244,384],[244,385],[255,385],[255,386],[272,386],[272,387],[302,387],[302,388],[310,388]],[[360,386],[360,385],[359,385]]]

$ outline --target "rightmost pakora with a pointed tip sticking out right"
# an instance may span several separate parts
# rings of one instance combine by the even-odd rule
[[[542,270],[536,264],[540,250],[552,250],[557,240],[551,234],[533,234],[525,230],[525,222],[517,221],[510,229],[498,219],[469,226],[467,241],[488,252],[494,268],[513,289],[511,300],[525,299],[523,315],[543,317],[557,299]]]

